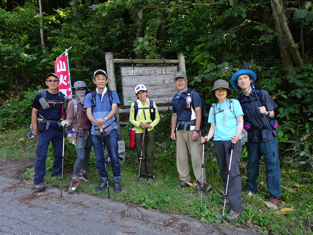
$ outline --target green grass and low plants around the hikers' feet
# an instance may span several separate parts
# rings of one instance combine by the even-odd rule
[[[147,209],[188,215],[208,224],[220,223],[223,206],[219,203],[222,200],[220,196],[223,197],[223,185],[217,161],[213,154],[213,148],[205,148],[205,169],[208,183],[206,188],[209,188],[209,190],[203,193],[203,210],[201,213],[201,194],[190,187],[183,189],[177,187],[179,177],[176,168],[176,146],[175,141],[170,139],[169,115],[166,113],[163,115],[165,117],[161,119],[161,123],[158,125],[160,131],[156,138],[157,143],[155,144],[156,178],[153,182],[136,181],[138,176],[138,158],[135,150],[128,147],[129,141],[127,134],[130,126],[122,128],[122,139],[126,140],[127,145],[126,158],[121,166],[122,192],[118,194],[114,193],[111,187],[110,194],[112,200],[138,204]],[[27,134],[28,130],[0,133],[0,158],[34,157],[36,140],[26,139],[26,141],[19,141],[21,138],[27,138]],[[52,153],[53,150],[50,147],[49,159],[47,160],[48,172],[45,177],[45,183],[50,187],[60,187],[60,178],[50,178]],[[286,188],[282,189],[282,198],[278,208],[292,208],[296,209],[296,211],[292,211],[289,215],[276,215],[272,209],[269,209],[265,205],[264,202],[268,201],[269,194],[266,188],[265,164],[261,162],[258,193],[252,197],[243,195],[245,211],[238,223],[233,224],[234,226],[261,234],[313,235],[313,172],[284,163],[284,154],[284,152],[280,153],[281,180],[282,186]],[[67,193],[76,158],[73,145],[67,144],[65,158],[63,184],[64,191]],[[108,164],[108,171],[109,175],[112,176],[111,164]],[[33,169],[30,169],[22,176],[31,181],[32,173]],[[90,184],[80,183],[77,191],[107,198],[107,189],[100,192],[94,190],[99,186],[100,178],[96,169],[93,151],[91,152],[87,173],[92,182]],[[244,191],[246,189],[246,154],[242,156],[241,175]],[[193,174],[192,177],[194,177]],[[192,181],[195,181],[195,179],[193,178]],[[294,184],[300,185],[299,188]],[[292,189],[295,190],[293,191]],[[229,208],[226,207],[225,214],[228,211]]]

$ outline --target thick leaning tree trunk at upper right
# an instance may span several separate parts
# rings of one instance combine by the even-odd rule
[[[281,0],[271,0],[271,8],[276,29],[280,32],[279,48],[282,57],[283,66],[291,66],[293,68],[302,67],[303,61],[298,50],[298,46],[294,43],[291,32],[289,30],[285,9],[282,6]]]

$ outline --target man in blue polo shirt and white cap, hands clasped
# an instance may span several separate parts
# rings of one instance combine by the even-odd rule
[[[109,80],[105,71],[95,71],[92,81],[97,86],[96,96],[92,100],[92,93],[87,94],[84,108],[87,108],[87,117],[92,122],[91,138],[96,155],[97,168],[102,181],[100,186],[96,188],[96,191],[101,191],[109,187],[109,175],[106,168],[104,146],[101,135],[99,134],[99,129],[102,128],[104,144],[107,146],[112,164],[114,192],[120,192],[122,190],[121,167],[118,156],[117,124],[114,117],[117,107],[120,105],[119,98],[116,92],[107,89],[106,84]],[[109,92],[112,92],[112,95],[109,95]]]

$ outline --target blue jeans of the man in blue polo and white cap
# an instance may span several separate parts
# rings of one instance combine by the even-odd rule
[[[107,165],[103,153],[103,144],[101,137],[97,135],[91,135],[93,142],[94,153],[96,155],[97,168],[101,179],[108,177]],[[110,135],[103,137],[104,146],[107,146],[108,153],[111,159],[113,179],[121,178],[121,167],[119,164],[118,156],[118,134],[117,130],[113,129]]]

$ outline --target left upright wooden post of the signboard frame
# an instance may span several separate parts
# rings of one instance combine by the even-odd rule
[[[107,75],[109,79],[109,89],[116,92],[116,81],[115,81],[115,71],[114,71],[114,63],[113,63],[113,53],[112,52],[106,52],[106,64],[107,64]],[[121,125],[119,121],[119,114],[118,110],[116,112],[116,123],[117,123],[117,134],[118,139],[121,140]]]

